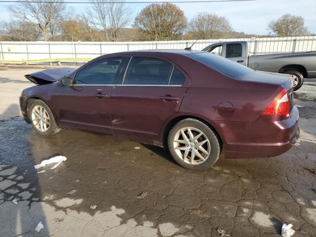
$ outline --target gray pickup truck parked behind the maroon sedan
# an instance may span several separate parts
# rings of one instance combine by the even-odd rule
[[[290,74],[294,90],[303,85],[304,78],[316,78],[316,52],[282,53],[249,56],[248,42],[214,43],[202,51],[217,54],[257,71]]]

